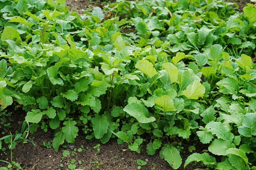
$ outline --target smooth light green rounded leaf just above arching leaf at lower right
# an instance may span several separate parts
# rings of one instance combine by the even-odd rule
[[[228,140],[215,139],[211,145],[208,147],[208,150],[214,155],[227,155],[226,150],[228,148],[234,147]]]

